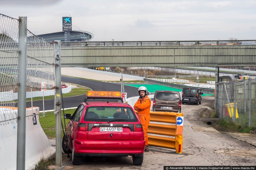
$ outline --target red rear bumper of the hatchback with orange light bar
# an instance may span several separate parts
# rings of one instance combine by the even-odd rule
[[[74,153],[83,156],[90,155],[112,155],[128,156],[139,155],[144,153],[144,140],[127,140],[127,141],[103,141],[103,140],[79,140],[73,141]],[[81,156],[82,156],[81,155]]]

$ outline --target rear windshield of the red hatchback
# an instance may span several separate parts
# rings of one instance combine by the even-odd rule
[[[137,122],[138,119],[130,107],[89,106],[84,115],[84,121],[124,121]],[[120,120],[118,120],[120,119]]]

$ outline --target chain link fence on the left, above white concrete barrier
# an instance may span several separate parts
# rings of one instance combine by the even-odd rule
[[[18,92],[18,36],[19,20],[0,14],[0,125],[17,119],[14,93]],[[55,86],[54,44],[27,30],[26,48],[27,91],[52,89]],[[55,100],[53,104],[55,109]]]

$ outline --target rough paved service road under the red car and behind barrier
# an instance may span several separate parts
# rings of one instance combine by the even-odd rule
[[[80,166],[72,165],[72,158],[65,169],[74,170],[163,170],[164,166],[255,166],[256,147],[220,133],[199,120],[200,111],[210,109],[213,96],[202,98],[202,104],[182,105],[184,115],[183,154],[171,149],[150,147],[144,153],[142,166],[134,166],[132,158],[84,157]],[[72,157],[72,156],[71,156]],[[62,155],[62,165],[68,158]]]

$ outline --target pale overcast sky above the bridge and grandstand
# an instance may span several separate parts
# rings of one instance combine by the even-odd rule
[[[256,0],[0,0],[0,14],[26,16],[36,35],[70,16],[92,41],[256,39]]]

